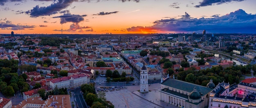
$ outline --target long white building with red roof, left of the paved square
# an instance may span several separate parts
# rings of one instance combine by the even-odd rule
[[[82,84],[88,84],[90,82],[90,75],[86,73],[74,74],[67,77],[55,78],[50,80],[49,86],[54,89],[57,88],[77,88]]]

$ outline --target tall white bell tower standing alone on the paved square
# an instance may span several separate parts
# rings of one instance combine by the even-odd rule
[[[148,71],[145,66],[145,63],[143,63],[143,66],[140,71],[140,89],[139,89],[139,91],[141,93],[148,92]]]

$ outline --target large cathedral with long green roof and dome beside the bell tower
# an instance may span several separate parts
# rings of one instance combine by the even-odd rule
[[[167,78],[159,90],[160,101],[181,108],[204,108],[209,104],[211,90],[208,87]]]

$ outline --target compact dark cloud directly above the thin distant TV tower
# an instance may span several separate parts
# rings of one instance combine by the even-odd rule
[[[63,15],[61,16],[56,16],[56,17],[53,17],[53,18],[61,18],[61,24],[64,24],[66,22],[81,22],[84,20],[83,17],[85,17],[87,15],[71,15],[70,13],[64,13]]]

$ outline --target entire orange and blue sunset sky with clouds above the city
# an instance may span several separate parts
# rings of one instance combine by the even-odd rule
[[[0,0],[0,34],[256,33],[256,0]]]

